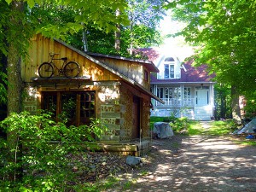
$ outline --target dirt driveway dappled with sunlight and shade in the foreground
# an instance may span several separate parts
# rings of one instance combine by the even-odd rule
[[[256,191],[256,148],[228,137],[176,137],[154,140],[145,176],[129,189],[112,191]],[[145,168],[146,170],[146,168]]]

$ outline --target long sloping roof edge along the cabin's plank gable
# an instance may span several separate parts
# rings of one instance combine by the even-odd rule
[[[68,47],[69,49],[72,49],[74,52],[77,52],[79,55],[84,56],[84,57],[87,58],[88,60],[95,62],[97,65],[99,65],[99,66],[101,66],[101,67],[107,69],[109,72],[111,72],[111,73],[117,75],[120,79],[125,80],[125,82],[130,83],[130,84],[133,84],[138,90],[143,91],[143,93],[145,93],[146,95],[150,96],[151,98],[154,98],[156,101],[161,102],[161,103],[165,103],[165,102],[163,102],[159,97],[154,96],[153,93],[151,93],[150,91],[148,91],[147,89],[145,89],[141,84],[138,84],[135,80],[128,78],[127,76],[125,76],[125,75],[122,74],[122,73],[119,73],[117,70],[113,69],[112,67],[109,67],[108,65],[104,64],[102,61],[96,60],[93,56],[90,56],[90,55],[86,54],[85,52],[83,52],[83,51],[81,51],[81,50],[79,50],[79,49],[76,49],[76,48],[74,48],[74,47],[71,46],[71,45],[66,44],[65,42],[61,41],[60,39],[54,38],[54,40],[55,40],[56,42],[58,42],[58,43],[64,45],[64,46]],[[123,60],[125,60],[125,58],[123,58]],[[148,62],[149,62],[149,61],[148,61]],[[151,62],[151,63],[152,63],[152,62]],[[153,63],[152,63],[152,64],[153,64]],[[154,64],[153,64],[153,65],[154,65]]]

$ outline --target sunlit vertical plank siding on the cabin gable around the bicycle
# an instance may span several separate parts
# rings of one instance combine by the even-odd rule
[[[32,78],[38,77],[38,67],[44,61],[49,61],[49,53],[52,52],[59,54],[55,55],[55,58],[67,57],[68,61],[78,62],[82,69],[79,76],[90,75],[92,81],[120,79],[117,75],[110,73],[107,69],[100,67],[95,62],[90,61],[67,46],[60,44],[53,39],[37,35],[32,38],[29,55],[21,66],[23,81],[32,82]],[[57,67],[61,67],[63,61],[54,62]]]

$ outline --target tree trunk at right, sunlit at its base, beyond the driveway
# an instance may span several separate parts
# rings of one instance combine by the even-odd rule
[[[237,92],[235,85],[231,85],[231,108],[232,108],[232,118],[236,121],[236,123],[241,124],[239,93]]]

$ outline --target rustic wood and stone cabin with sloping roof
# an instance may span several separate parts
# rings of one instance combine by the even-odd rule
[[[40,78],[38,67],[55,58],[67,57],[81,67],[79,76],[66,78],[55,73]],[[61,67],[61,60],[54,61]],[[149,118],[151,99],[162,102],[150,92],[150,73],[158,69],[150,61],[119,56],[87,54],[57,39],[38,34],[32,38],[29,57],[22,63],[26,84],[24,110],[35,113],[47,109],[67,113],[69,125],[86,125],[90,118],[101,119],[108,131],[96,138],[101,150],[140,155],[150,148]]]

